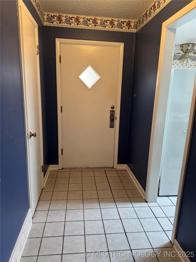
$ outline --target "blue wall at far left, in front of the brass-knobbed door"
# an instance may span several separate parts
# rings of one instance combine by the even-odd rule
[[[0,5],[1,262],[7,262],[29,203],[17,4],[16,1],[1,0]],[[8,14],[11,20],[8,20]]]

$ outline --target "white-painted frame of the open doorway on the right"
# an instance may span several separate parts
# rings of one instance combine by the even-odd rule
[[[145,200],[148,202],[156,202],[158,186],[159,186],[159,173],[160,162],[163,147],[164,126],[166,119],[168,92],[171,78],[171,68],[173,61],[173,51],[175,46],[176,29],[181,25],[189,22],[196,15],[196,3],[190,2],[182,10],[174,14],[168,20],[162,24],[161,42],[158,72],[156,80],[156,91],[153,109],[153,121],[150,137],[149,147],[149,160],[147,170],[147,181]],[[179,191],[177,197],[177,204],[175,210],[174,226],[171,237],[171,242],[174,242],[174,238],[177,230],[177,222],[179,217],[179,208],[182,198],[184,178],[186,173],[187,158],[190,146],[190,138],[192,133],[193,119],[195,113],[195,99],[196,99],[196,82],[194,84],[193,96],[190,108],[189,123],[187,128],[187,137],[185,143],[185,150],[183,156],[183,164],[180,176]]]

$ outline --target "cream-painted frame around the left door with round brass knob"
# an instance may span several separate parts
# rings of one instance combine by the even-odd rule
[[[39,45],[38,39],[38,25],[28,8],[25,6],[22,0],[18,0],[18,13],[19,13],[19,41],[20,41],[20,56],[21,56],[21,75],[22,75],[22,91],[23,91],[23,104],[24,104],[24,116],[25,116],[25,143],[26,143],[26,155],[27,155],[27,178],[28,178],[28,197],[29,197],[29,208],[32,208],[32,194],[31,194],[31,170],[30,170],[30,153],[29,153],[29,143],[28,143],[28,111],[27,111],[27,94],[26,94],[26,82],[25,82],[25,59],[24,59],[24,40],[23,40],[23,30],[22,30],[22,12],[21,8],[25,10],[25,13],[28,14],[32,24],[36,28],[36,40],[37,45]],[[40,113],[40,127],[41,127],[41,162],[43,165],[43,132],[42,132],[42,108],[41,108],[41,86],[40,86],[40,60],[39,55],[37,56],[37,70],[38,70],[38,88],[40,90],[39,100],[37,101]],[[43,176],[42,176],[42,188],[43,188]]]

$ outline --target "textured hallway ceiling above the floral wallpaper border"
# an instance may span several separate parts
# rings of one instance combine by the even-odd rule
[[[137,20],[152,0],[40,0],[44,13]]]

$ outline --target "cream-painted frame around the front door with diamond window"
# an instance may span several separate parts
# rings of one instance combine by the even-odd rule
[[[59,167],[59,169],[62,169],[62,154],[61,154],[61,149],[62,149],[62,115],[61,115],[62,100],[61,100],[61,65],[60,65],[60,61],[59,61],[60,44],[109,46],[109,47],[119,47],[119,49],[120,49],[120,52],[119,52],[119,75],[118,75],[117,100],[116,100],[117,103],[116,103],[116,120],[115,120],[115,141],[114,141],[114,168],[117,168],[124,43],[56,38],[56,81],[57,81],[57,113],[58,113],[58,167]]]

